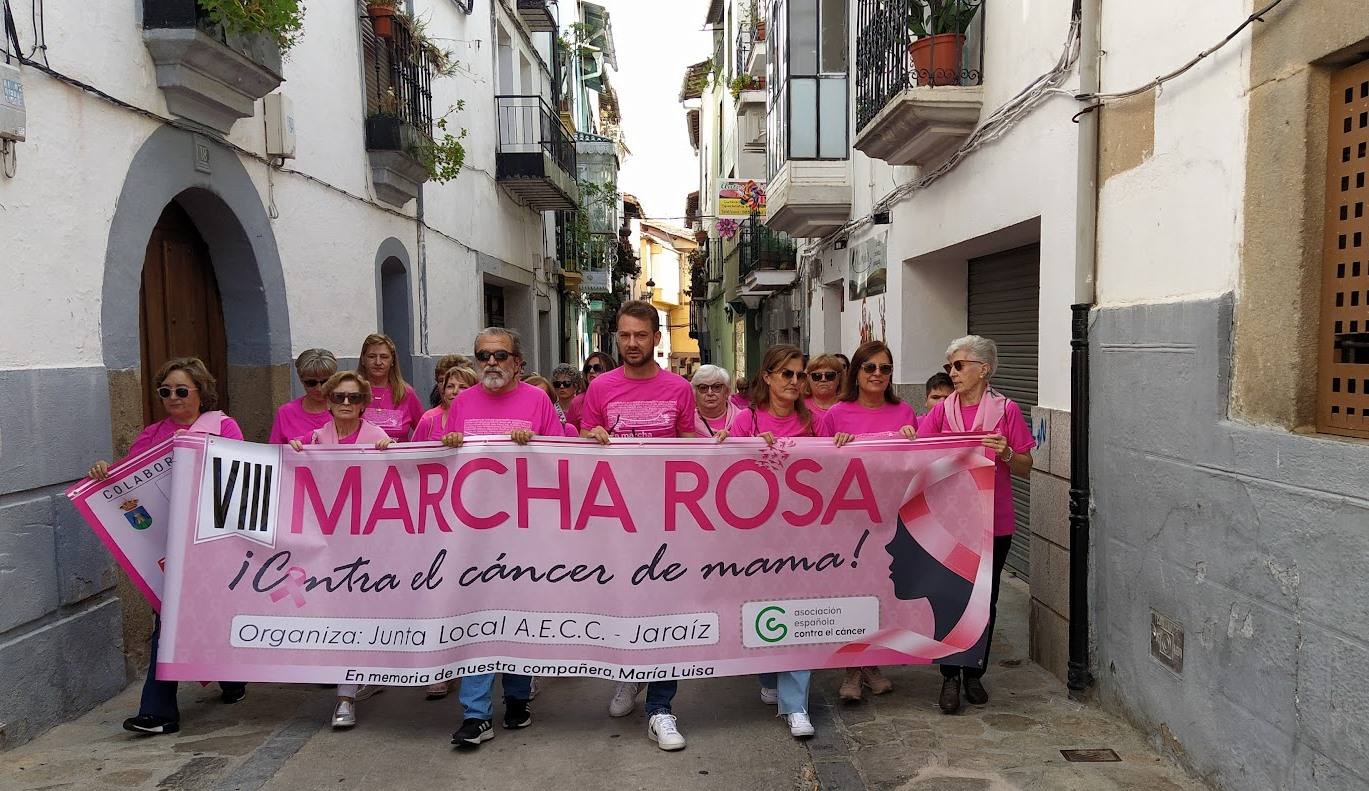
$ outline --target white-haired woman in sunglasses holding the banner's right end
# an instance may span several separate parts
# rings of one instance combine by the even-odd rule
[[[1032,467],[1031,450],[1036,446],[1027,420],[1017,404],[990,386],[998,368],[998,345],[988,338],[965,335],[946,346],[946,374],[956,390],[932,406],[919,424],[921,437],[962,431],[987,431],[984,448],[993,454],[994,472],[994,587],[988,605],[988,625],[984,630],[984,665],[961,668],[942,665],[939,705],[953,714],[960,710],[961,683],[965,699],[975,705],[988,702],[988,692],[980,682],[988,666],[988,647],[994,639],[994,620],[998,614],[998,578],[1003,573],[1008,549],[1013,543],[1013,475],[1028,475]]]

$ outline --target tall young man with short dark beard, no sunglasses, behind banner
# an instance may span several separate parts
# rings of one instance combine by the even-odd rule
[[[617,312],[617,357],[622,367],[597,376],[585,393],[580,437],[612,443],[615,437],[680,437],[694,434],[694,391],[678,374],[656,363],[661,320],[650,304],[626,302]],[[661,750],[683,750],[671,701],[678,682],[646,684],[646,736]],[[609,701],[612,717],[626,717],[637,706],[642,684],[620,683]]]

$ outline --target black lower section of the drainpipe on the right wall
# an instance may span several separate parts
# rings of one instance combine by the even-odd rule
[[[1071,305],[1069,361],[1069,662],[1071,697],[1088,690],[1088,311]]]

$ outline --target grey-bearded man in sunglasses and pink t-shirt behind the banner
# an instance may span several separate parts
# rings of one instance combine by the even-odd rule
[[[541,387],[519,379],[523,349],[517,333],[486,327],[475,335],[476,387],[467,387],[446,411],[442,443],[460,448],[465,437],[501,435],[519,445],[533,437],[565,437],[556,406]],[[527,728],[533,712],[531,676],[504,673],[504,727]],[[457,747],[479,747],[494,738],[494,673],[461,679],[461,727],[452,734]]]

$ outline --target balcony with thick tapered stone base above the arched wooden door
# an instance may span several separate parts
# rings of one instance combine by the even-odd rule
[[[211,25],[196,0],[142,0],[142,42],[167,111],[220,134],[285,82],[275,41]]]

